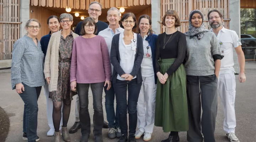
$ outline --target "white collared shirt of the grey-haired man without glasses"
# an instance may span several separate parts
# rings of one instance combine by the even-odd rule
[[[116,33],[114,33],[113,30],[109,26],[108,26],[108,28],[106,28],[98,33],[98,35],[102,36],[106,40],[109,55],[110,55],[113,36],[115,34],[119,34],[121,32],[124,32],[124,29],[121,28],[119,25],[119,28],[116,29]],[[113,73],[113,65],[112,64],[111,64],[111,71],[112,71],[111,73]]]

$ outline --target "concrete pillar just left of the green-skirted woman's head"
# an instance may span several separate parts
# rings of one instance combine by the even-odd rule
[[[160,0],[151,0],[151,20],[152,20],[152,29],[155,34],[161,33],[161,25],[158,21],[161,20],[161,7]]]

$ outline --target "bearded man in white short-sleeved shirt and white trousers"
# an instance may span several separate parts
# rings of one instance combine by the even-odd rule
[[[218,78],[218,94],[222,100],[225,120],[223,129],[230,142],[239,142],[235,136],[235,70],[233,60],[233,48],[235,48],[238,55],[238,62],[240,67],[239,82],[243,83],[245,77],[245,57],[241,48],[241,41],[235,31],[226,29],[222,26],[223,15],[218,10],[212,10],[208,13],[208,20],[211,31],[214,32],[218,38],[220,50],[224,58],[221,60],[219,78]]]

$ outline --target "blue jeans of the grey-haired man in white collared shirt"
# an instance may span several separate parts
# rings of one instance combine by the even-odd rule
[[[105,108],[106,108],[106,114],[107,114],[107,121],[108,126],[110,128],[119,127],[119,113],[117,111],[118,106],[116,105],[116,114],[114,112],[114,87],[113,85],[109,90],[107,90],[108,85],[104,87],[105,91]]]

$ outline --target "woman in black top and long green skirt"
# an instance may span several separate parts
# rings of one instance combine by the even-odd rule
[[[175,10],[168,10],[162,18],[166,32],[156,42],[155,126],[170,132],[161,142],[178,142],[179,131],[188,130],[186,72],[182,62],[186,56],[186,37],[177,31],[181,25]]]

